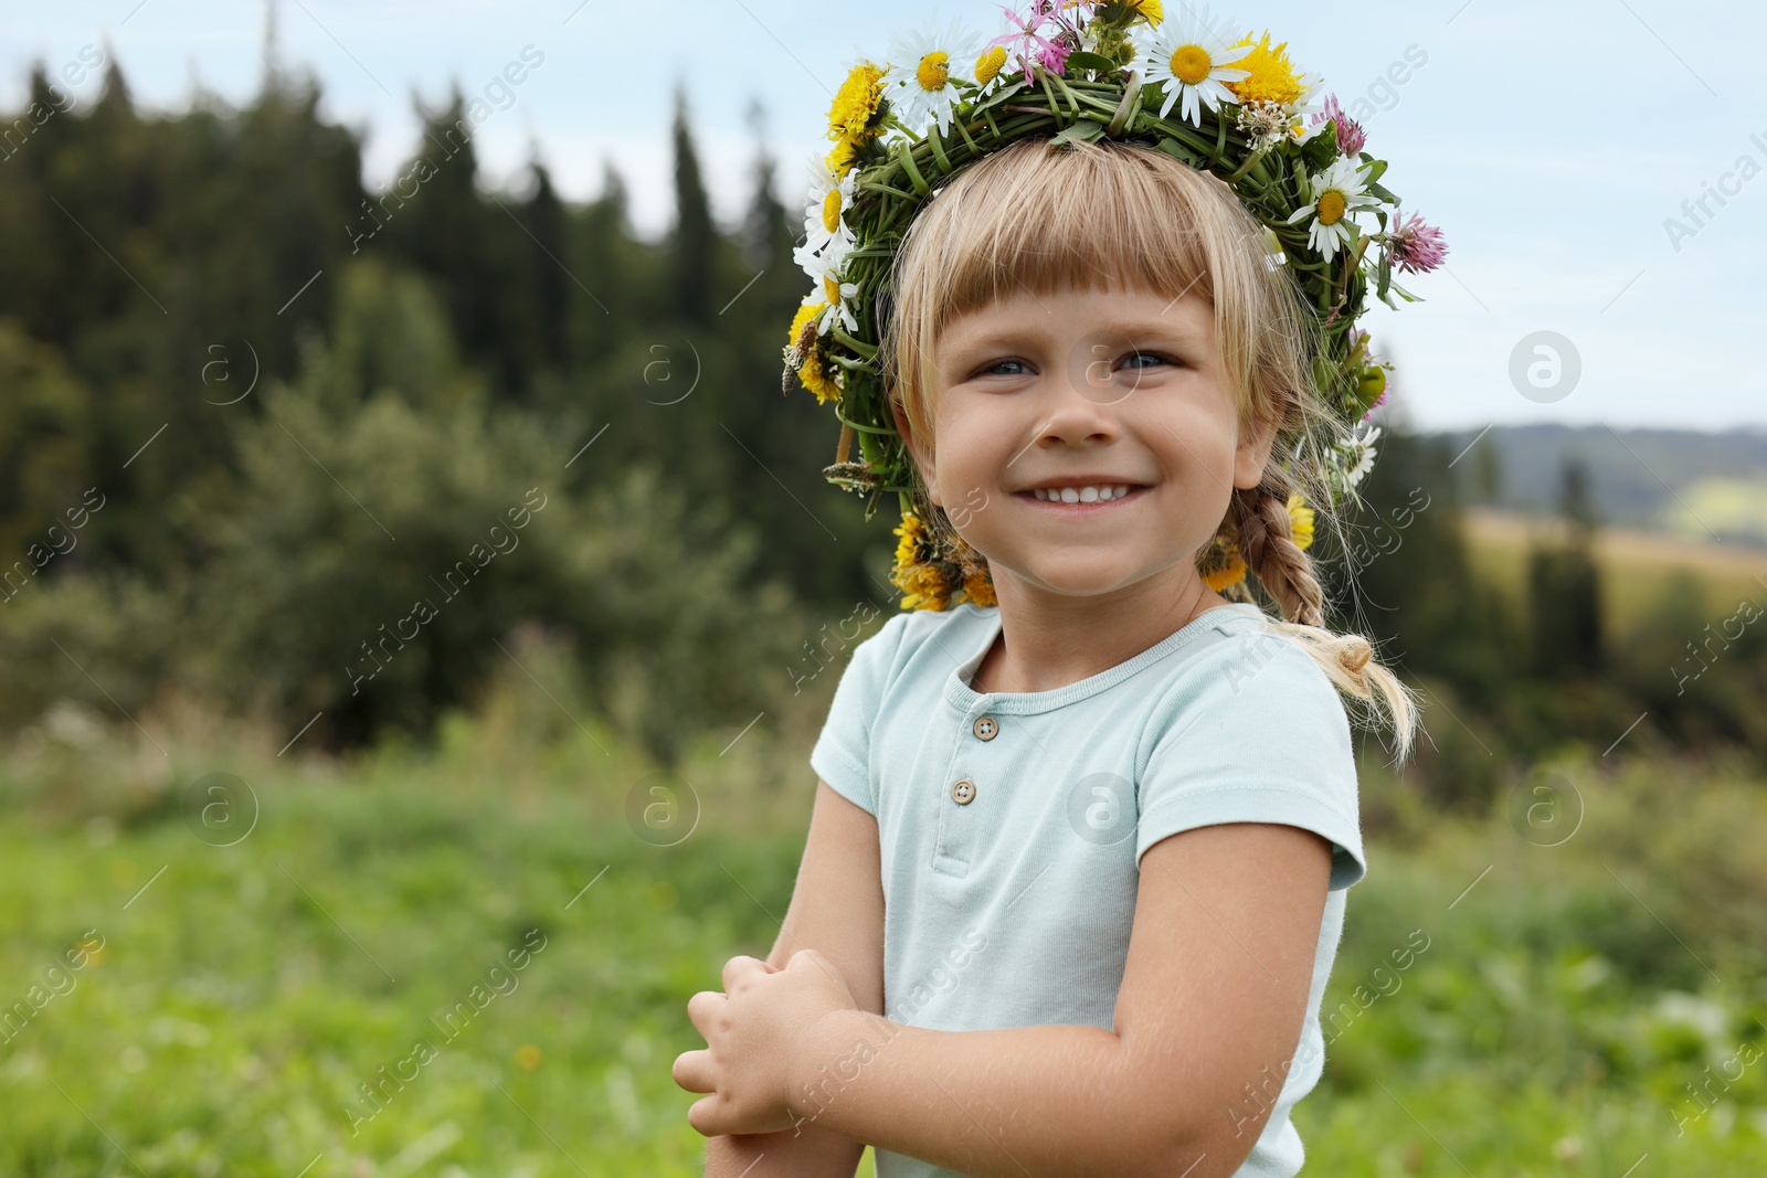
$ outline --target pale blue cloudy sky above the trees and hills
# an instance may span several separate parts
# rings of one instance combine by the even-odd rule
[[[0,108],[19,108],[32,62],[58,74],[81,53],[120,62],[143,108],[182,109],[196,88],[246,102],[269,11],[0,0]],[[1382,184],[1447,235],[1445,267],[1405,283],[1422,302],[1371,298],[1364,320],[1412,427],[1767,427],[1767,106],[1748,85],[1767,5],[1285,0],[1210,16],[1269,28],[1323,74],[1389,161]],[[611,164],[636,228],[656,235],[671,217],[677,87],[714,210],[740,214],[758,150],[795,207],[846,67],[951,19],[979,39],[1005,28],[986,0],[277,0],[276,42],[284,69],[318,78],[323,111],[364,136],[376,185],[412,155],[419,104],[442,106],[456,83],[482,94],[539,57],[475,134],[482,182],[519,187],[539,159],[565,198],[590,200]],[[69,85],[76,104],[97,90],[95,74]]]

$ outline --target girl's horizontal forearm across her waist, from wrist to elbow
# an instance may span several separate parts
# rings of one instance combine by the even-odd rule
[[[1097,1026],[933,1031],[841,1010],[800,1053],[792,1111],[965,1174],[1182,1173],[1179,1116],[1149,1097]]]

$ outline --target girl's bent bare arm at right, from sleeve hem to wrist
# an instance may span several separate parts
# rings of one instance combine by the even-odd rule
[[[792,1113],[965,1174],[1225,1178],[1301,1042],[1329,880],[1331,844],[1299,827],[1163,839],[1141,857],[1115,1030],[933,1031],[834,1010],[790,1086],[832,1074],[838,1099]]]

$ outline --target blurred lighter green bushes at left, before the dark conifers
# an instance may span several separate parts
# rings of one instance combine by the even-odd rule
[[[320,738],[428,731],[514,657],[504,639],[528,618],[574,645],[590,703],[659,758],[772,706],[785,676],[758,668],[792,661],[797,623],[753,526],[650,463],[574,487],[581,442],[493,403],[413,276],[352,267],[334,337],[233,419],[237,475],[168,507],[186,574],[65,576],[0,615],[0,706],[35,715],[104,683],[134,712],[170,682],[295,724],[318,714]],[[597,438],[573,464],[618,449]]]

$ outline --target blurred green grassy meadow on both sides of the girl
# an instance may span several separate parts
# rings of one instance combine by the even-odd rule
[[[157,731],[161,758],[62,717],[0,759],[0,1000],[87,929],[104,940],[0,1044],[0,1173],[698,1174],[694,1097],[670,1079],[701,1046],[686,1000],[772,943],[808,740],[709,742],[680,770],[698,825],[656,846],[627,823],[648,766],[528,696],[456,717],[433,756],[290,763],[277,740],[189,729]],[[216,768],[258,798],[235,846],[178,804]],[[1332,1038],[1295,1111],[1306,1173],[1767,1171],[1767,1058],[1675,1130],[1703,1069],[1767,1051],[1767,791],[1555,770],[1585,811],[1560,846],[1505,807],[1451,825],[1368,770],[1371,871],[1327,1010],[1410,931],[1430,947]],[[525,936],[544,948],[449,1040],[433,1019]],[[417,1040],[435,1060],[352,1136],[359,1084]]]

